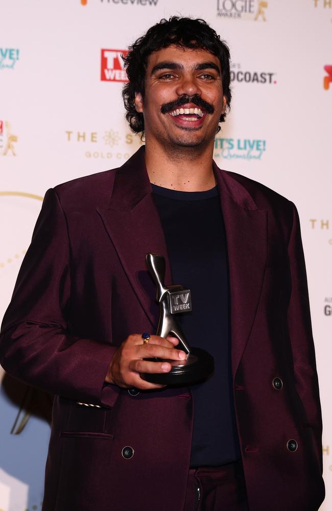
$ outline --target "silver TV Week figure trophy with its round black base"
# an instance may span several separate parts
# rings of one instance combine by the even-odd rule
[[[172,335],[179,339],[177,349],[187,354],[185,360],[167,360],[172,366],[169,373],[143,373],[141,378],[151,383],[163,385],[189,385],[206,380],[214,371],[213,357],[201,348],[189,347],[184,333],[176,320],[176,314],[192,310],[191,292],[180,285],[165,286],[165,259],[163,255],[147,253],[146,262],[157,288],[156,301],[160,315],[156,335]],[[147,359],[155,362],[159,358]]]

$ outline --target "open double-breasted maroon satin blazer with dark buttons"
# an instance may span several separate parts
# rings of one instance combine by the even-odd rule
[[[262,184],[214,168],[249,508],[314,511],[324,497],[322,425],[297,212]],[[131,395],[104,386],[116,346],[156,329],[147,252],[165,256],[170,284],[144,148],[119,169],[46,193],[1,337],[8,373],[56,394],[44,511],[183,509],[190,390]],[[126,446],[130,459],[122,456]]]

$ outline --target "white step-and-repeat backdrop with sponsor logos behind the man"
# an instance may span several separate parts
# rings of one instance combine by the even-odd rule
[[[121,53],[162,17],[201,17],[231,50],[233,101],[215,159],[299,210],[332,509],[332,0],[0,0],[0,318],[54,185],[118,167]],[[52,398],[1,373],[0,511],[40,509]]]

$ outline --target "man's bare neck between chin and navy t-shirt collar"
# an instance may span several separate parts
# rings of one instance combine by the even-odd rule
[[[204,192],[216,185],[213,145],[167,149],[146,141],[145,162],[150,182],[182,192]]]

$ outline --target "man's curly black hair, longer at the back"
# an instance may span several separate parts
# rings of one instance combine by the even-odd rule
[[[144,133],[143,113],[135,109],[135,93],[140,92],[144,98],[144,82],[148,58],[153,52],[168,48],[172,44],[181,48],[197,48],[207,50],[219,58],[222,72],[223,91],[226,105],[229,108],[231,100],[229,48],[220,39],[217,32],[203,19],[172,16],[161,19],[147,33],[139,37],[130,47],[124,60],[129,82],[124,85],[122,97],[127,110],[126,119],[134,133]],[[220,117],[225,121],[226,114]]]

